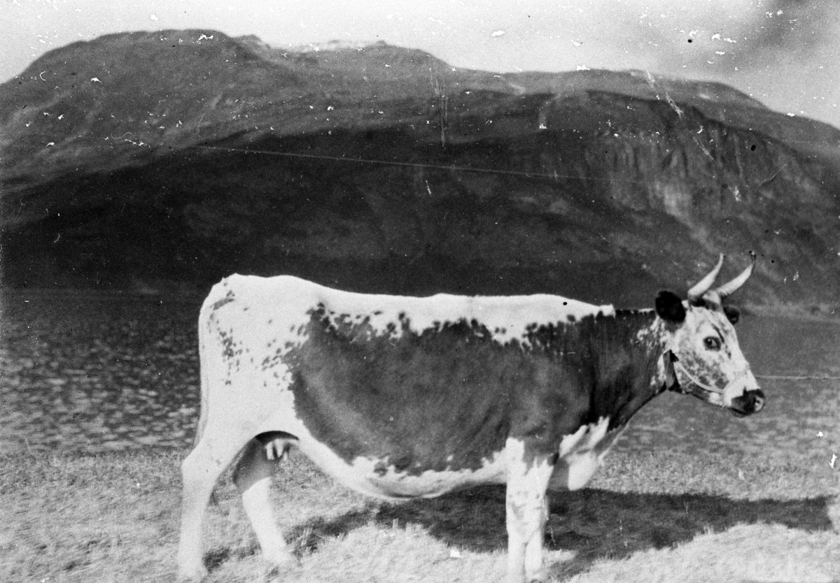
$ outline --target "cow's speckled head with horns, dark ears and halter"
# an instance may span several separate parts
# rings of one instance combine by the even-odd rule
[[[721,302],[747,281],[754,261],[753,256],[753,263],[737,278],[712,289],[723,264],[721,255],[711,273],[689,289],[687,300],[668,291],[656,298],[656,313],[666,323],[668,351],[664,364],[669,388],[738,415],[759,412],[764,406],[764,393],[738,346],[733,327],[738,310]]]

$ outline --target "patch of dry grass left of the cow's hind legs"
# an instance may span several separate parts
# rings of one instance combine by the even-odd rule
[[[176,465],[174,455],[3,458],[0,580],[166,580]]]

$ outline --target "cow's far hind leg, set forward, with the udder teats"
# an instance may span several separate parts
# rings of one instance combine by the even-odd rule
[[[276,460],[269,459],[268,454],[275,452],[282,455],[288,443],[280,437],[273,440],[251,440],[245,447],[234,471],[234,483],[242,494],[242,505],[254,528],[257,540],[260,541],[263,557],[281,568],[294,563],[295,559],[277,526],[274,511],[271,508],[271,474]]]

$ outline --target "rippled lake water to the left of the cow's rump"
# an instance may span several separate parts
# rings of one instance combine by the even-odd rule
[[[200,298],[50,291],[2,302],[3,449],[191,442]]]

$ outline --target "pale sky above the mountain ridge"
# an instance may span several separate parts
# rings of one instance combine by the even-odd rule
[[[283,48],[384,40],[455,67],[647,70],[722,81],[840,128],[837,0],[0,0],[0,82],[77,40],[255,34]]]

